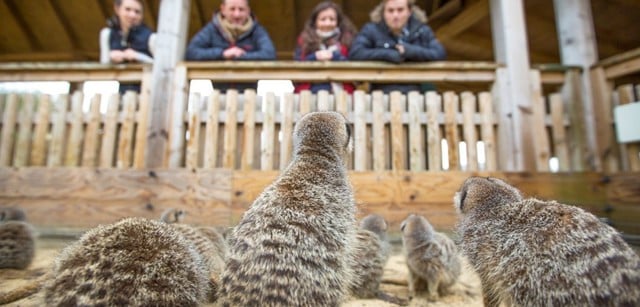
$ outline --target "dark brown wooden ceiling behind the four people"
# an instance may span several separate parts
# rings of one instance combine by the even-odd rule
[[[254,13],[269,31],[280,59],[291,59],[295,40],[320,0],[256,0]],[[377,0],[336,0],[358,28]],[[417,0],[430,16],[449,60],[493,60],[488,0]],[[98,32],[113,13],[112,0],[1,0],[0,61],[97,61]],[[553,0],[524,0],[532,63],[558,63]],[[145,3],[145,23],[157,28],[160,0]],[[190,39],[219,0],[192,0]],[[640,1],[592,0],[599,58],[640,47]]]

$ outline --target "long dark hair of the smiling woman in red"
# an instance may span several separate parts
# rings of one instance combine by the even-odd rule
[[[320,37],[318,37],[318,34],[316,33],[316,19],[320,12],[326,9],[333,9],[336,11],[338,28],[340,29],[340,38],[338,40],[340,44],[347,47],[351,46],[351,41],[357,32],[356,27],[353,25],[349,17],[342,12],[339,5],[331,1],[323,1],[313,8],[311,16],[307,19],[307,22],[304,24],[304,29],[300,34],[302,54],[308,54],[320,48]]]

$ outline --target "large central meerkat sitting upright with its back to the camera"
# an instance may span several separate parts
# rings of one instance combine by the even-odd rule
[[[346,119],[314,112],[294,127],[290,164],[233,229],[222,306],[337,306],[348,295],[356,206]]]

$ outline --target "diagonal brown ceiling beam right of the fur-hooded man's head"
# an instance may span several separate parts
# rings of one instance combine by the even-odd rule
[[[465,6],[461,13],[438,28],[436,37],[443,42],[450,40],[487,16],[489,16],[489,0],[474,2]]]

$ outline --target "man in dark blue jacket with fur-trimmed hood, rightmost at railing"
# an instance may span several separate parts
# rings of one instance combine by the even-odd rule
[[[382,0],[370,14],[349,50],[350,60],[391,63],[444,60],[447,53],[426,24],[427,16],[415,0]],[[371,84],[370,90],[422,90],[421,84]]]

